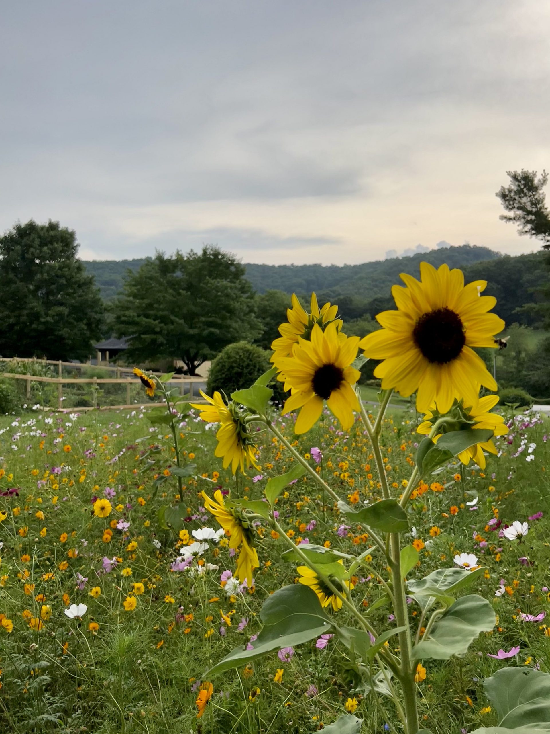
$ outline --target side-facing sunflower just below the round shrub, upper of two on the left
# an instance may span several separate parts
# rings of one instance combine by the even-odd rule
[[[241,472],[244,473],[245,464],[247,469],[250,465],[257,469],[255,456],[257,446],[246,425],[245,419],[248,415],[246,411],[234,402],[226,405],[217,391],[213,398],[205,395],[202,390],[200,394],[210,405],[191,403],[191,407],[201,411],[200,417],[206,423],[221,423],[221,428],[216,433],[218,446],[214,454],[224,459],[224,469],[230,464],[232,473],[235,473],[238,467],[241,467]]]

